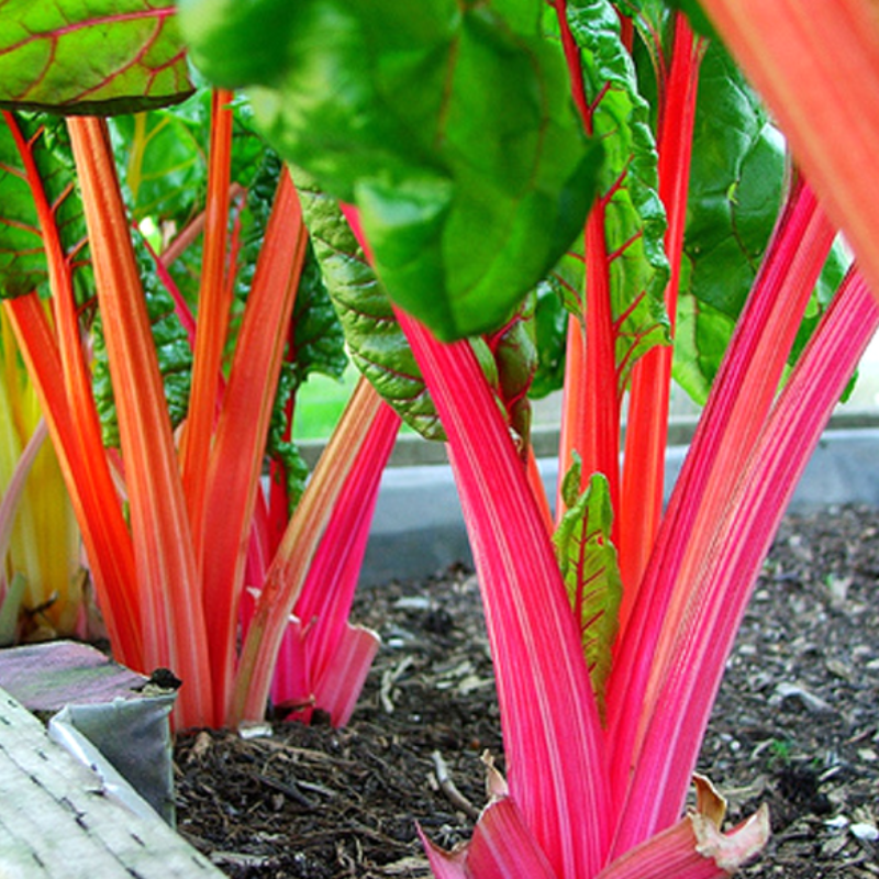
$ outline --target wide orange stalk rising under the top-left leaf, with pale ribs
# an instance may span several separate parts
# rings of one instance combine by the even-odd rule
[[[98,301],[119,413],[146,668],[183,679],[176,719],[215,722],[202,596],[177,455],[105,124],[71,118]]]

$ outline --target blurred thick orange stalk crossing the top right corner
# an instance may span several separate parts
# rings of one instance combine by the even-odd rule
[[[869,0],[702,0],[879,296],[879,14]]]

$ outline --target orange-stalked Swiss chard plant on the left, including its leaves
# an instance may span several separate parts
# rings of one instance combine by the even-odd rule
[[[115,656],[174,669],[178,725],[259,720],[269,693],[344,723],[400,418],[361,381],[304,486],[294,391],[345,355],[289,174],[231,92],[196,89],[170,5],[7,4],[0,69],[3,326]]]

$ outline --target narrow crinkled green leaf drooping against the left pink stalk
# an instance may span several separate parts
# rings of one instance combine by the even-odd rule
[[[433,401],[390,300],[338,204],[303,173],[294,171],[293,179],[299,185],[302,212],[323,282],[342,321],[352,360],[410,426],[429,439],[444,438]]]

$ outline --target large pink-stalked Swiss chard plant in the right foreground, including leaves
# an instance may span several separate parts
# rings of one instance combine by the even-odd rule
[[[738,48],[775,38],[772,24],[758,38],[737,11],[757,5],[794,26],[812,14],[705,3],[734,49],[739,37]],[[843,54],[876,35],[866,9],[868,36],[846,33],[855,0],[838,27],[834,4],[819,5]],[[399,344],[392,309],[409,342],[399,356],[414,356],[448,442],[508,778],[490,771],[468,846],[445,853],[425,839],[435,875],[734,871],[765,842],[765,812],[724,833],[708,782],[697,781],[689,812],[687,791],[771,536],[879,325],[858,267],[828,259],[836,227],[810,163],[804,174],[786,166],[780,135],[721,48],[650,0],[185,0],[180,12],[197,65],[246,89],[293,177],[310,193],[316,183],[307,223],[355,311],[352,272],[366,272],[365,259],[375,268],[372,341]],[[793,51],[758,51],[753,69]],[[868,55],[875,66],[879,54]],[[791,62],[798,91],[823,69],[806,76],[810,58]],[[826,79],[844,89],[836,70]],[[816,141],[845,158],[842,138],[827,146],[834,137]],[[831,178],[846,167],[832,164]],[[360,252],[333,246],[334,200]],[[869,274],[870,244],[853,241]],[[568,472],[557,528],[511,431],[515,393],[485,367],[493,334],[539,310],[535,287],[568,315],[556,321],[567,324]],[[664,509],[672,369],[706,399]]]

